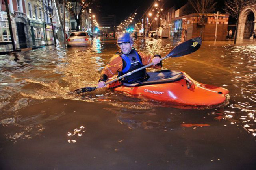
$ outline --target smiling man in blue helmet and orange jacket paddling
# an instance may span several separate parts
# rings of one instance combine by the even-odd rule
[[[122,33],[117,39],[117,44],[121,48],[122,52],[117,52],[111,59],[108,65],[104,67],[101,72],[98,87],[106,87],[104,82],[108,78],[111,78],[118,72],[118,76],[122,76],[128,72],[136,70],[151,62],[154,63],[152,68],[158,69],[162,67],[162,61],[160,61],[160,55],[147,55],[143,52],[137,52],[134,48],[134,40],[129,33]],[[122,82],[124,83],[139,83],[147,81],[149,78],[146,69],[140,70],[126,76]]]

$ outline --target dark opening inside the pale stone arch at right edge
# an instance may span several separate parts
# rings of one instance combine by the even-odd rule
[[[245,30],[243,33],[243,39],[250,39],[254,29],[254,13],[250,11],[245,20]]]

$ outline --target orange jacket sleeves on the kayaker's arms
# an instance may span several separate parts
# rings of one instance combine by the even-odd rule
[[[152,59],[153,59],[152,55],[147,55],[143,52],[138,52],[138,54],[141,56],[143,65],[147,65],[152,62]],[[152,65],[151,68],[159,69],[161,68],[161,66],[155,65],[155,67],[153,67]],[[108,78],[111,78],[117,73],[117,71],[119,72],[122,71],[122,57],[120,57],[120,55],[118,54],[115,54],[110,59],[109,64],[103,68],[101,75],[105,74],[106,76],[108,76]]]

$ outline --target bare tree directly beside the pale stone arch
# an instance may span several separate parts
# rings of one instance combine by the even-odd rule
[[[236,18],[236,31],[235,31],[235,38],[234,44],[236,44],[237,39],[237,28],[239,23],[239,17],[241,11],[244,7],[248,6],[250,3],[255,2],[255,0],[226,0],[225,2],[225,9],[224,11],[231,15],[232,17]]]

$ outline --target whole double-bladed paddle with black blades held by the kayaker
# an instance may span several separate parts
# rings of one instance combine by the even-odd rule
[[[196,38],[193,38],[193,39],[190,39],[190,40],[187,40],[185,42],[182,42],[181,44],[179,44],[178,46],[176,46],[175,48],[173,48],[173,50],[171,50],[171,52],[169,52],[169,54],[167,54],[165,57],[163,58],[160,58],[160,61],[168,58],[168,57],[181,57],[181,56],[184,56],[184,55],[188,55],[188,54],[191,54],[195,51],[197,51],[200,46],[202,44],[202,39],[201,37],[196,37]],[[108,85],[110,83],[113,83],[115,81],[118,81],[126,76],[130,76],[131,74],[134,74],[135,72],[138,72],[139,70],[142,70],[144,68],[147,68],[147,67],[150,67],[154,65],[154,63],[150,63],[148,65],[145,65],[141,68],[138,68],[136,70],[133,70],[131,72],[128,72],[118,78],[115,78],[111,81],[108,81],[105,83],[105,85]],[[80,94],[80,93],[84,93],[84,92],[90,92],[90,91],[94,91],[95,89],[97,89],[98,87],[83,87],[81,89],[76,89],[74,91],[71,91],[71,92],[68,92],[68,94]]]

